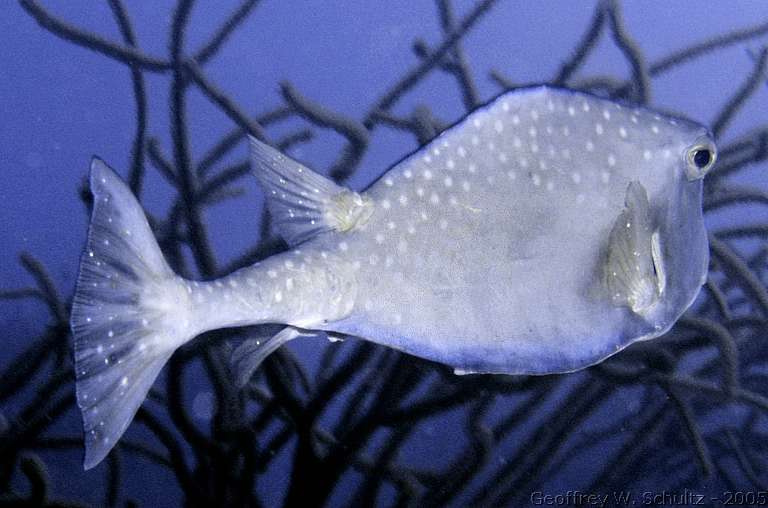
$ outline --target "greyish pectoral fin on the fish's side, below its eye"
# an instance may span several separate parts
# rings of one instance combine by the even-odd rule
[[[627,187],[624,210],[608,237],[604,283],[611,301],[643,315],[659,300],[666,278],[658,231],[651,225],[648,194],[640,182]]]

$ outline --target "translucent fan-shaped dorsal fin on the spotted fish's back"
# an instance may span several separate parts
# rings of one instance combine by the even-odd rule
[[[336,185],[251,137],[253,172],[264,188],[275,231],[297,245],[323,231],[352,231],[373,213],[368,198]]]

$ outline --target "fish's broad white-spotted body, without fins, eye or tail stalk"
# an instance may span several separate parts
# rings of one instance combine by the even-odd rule
[[[702,143],[700,126],[589,95],[500,97],[377,181],[361,231],[315,240],[334,252],[344,242],[360,264],[355,307],[335,329],[510,374],[582,368],[660,335],[706,276],[702,182],[685,171]],[[656,231],[667,278],[642,313],[606,298],[601,273],[632,182],[651,215],[637,257],[652,265]]]

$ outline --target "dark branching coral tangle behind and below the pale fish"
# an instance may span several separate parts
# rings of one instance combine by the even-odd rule
[[[245,140],[246,133],[281,149],[310,139],[316,129],[330,129],[346,144],[330,168],[343,181],[352,175],[366,152],[370,134],[389,127],[426,143],[449,122],[428,106],[408,116],[393,106],[429,75],[444,73],[455,81],[467,109],[483,99],[467,65],[462,41],[475,23],[491,16],[495,0],[481,0],[464,17],[450,0],[437,0],[443,38],[435,46],[414,43],[420,61],[376,98],[362,118],[348,118],[313,103],[290,83],[282,84],[285,105],[254,115],[239,107],[205,73],[206,63],[227,42],[256,7],[244,0],[211,39],[193,52],[186,50],[192,0],[179,0],[172,17],[168,55],[144,52],[121,0],[109,0],[122,41],[109,41],[50,14],[38,0],[19,0],[47,32],[125,64],[131,72],[136,102],[136,133],[128,181],[141,195],[145,173],[156,170],[177,190],[166,217],[151,222],[174,269],[185,275],[218,277],[284,248],[264,227],[259,241],[226,266],[216,259],[204,211],[226,201],[246,175],[248,163],[225,166],[224,160]],[[768,23],[675,51],[648,62],[621,19],[618,2],[600,2],[590,25],[551,82],[590,90],[637,103],[651,102],[654,79],[720,48],[768,33]],[[582,64],[601,35],[607,34],[629,63],[631,79],[595,76],[577,78]],[[752,55],[754,72],[725,101],[712,122],[722,137],[731,120],[744,114],[745,103],[763,82],[768,51]],[[171,156],[148,137],[144,84],[149,73],[168,78],[170,87]],[[490,72],[502,89],[513,83],[501,71]],[[190,90],[201,91],[233,122],[208,152],[194,161],[188,135]],[[274,138],[270,128],[289,117],[302,117],[306,128]],[[768,158],[768,124],[721,146],[717,168],[706,180],[705,211],[765,206],[764,190],[734,184],[730,176]],[[268,224],[268,217],[263,221]],[[717,485],[724,489],[765,489],[768,429],[768,225],[741,225],[711,233],[710,276],[702,302],[664,338],[633,345],[600,365],[561,376],[454,376],[450,369],[367,342],[350,340],[328,346],[319,374],[310,376],[289,352],[272,355],[246,389],[239,391],[228,371],[228,339],[253,329],[209,333],[175,354],[137,415],[154,439],[137,441],[129,431],[106,461],[106,497],[114,506],[130,501],[124,490],[126,464],[151,464],[170,471],[177,496],[189,505],[262,504],[256,479],[275,458],[290,453],[287,505],[322,504],[332,495],[340,502],[366,506],[386,501],[405,506],[521,506],[535,490],[557,485],[574,465],[588,461],[594,474],[579,488],[613,492],[653,485],[661,491]],[[756,249],[740,248],[737,240],[752,239]],[[187,266],[183,248],[192,252]],[[45,333],[30,341],[18,358],[0,372],[0,402],[7,402],[30,379],[33,395],[0,414],[0,501],[35,505],[74,506],[62,501],[51,484],[41,451],[77,450],[78,429],[52,435],[55,422],[74,414],[72,362],[69,352],[66,298],[34,257],[21,262],[34,285],[6,290],[4,300],[35,298],[50,312]],[[215,395],[215,415],[207,428],[193,421],[184,404],[184,373],[194,362],[204,367]],[[637,403],[629,404],[627,400]],[[10,406],[9,406],[10,407]],[[328,408],[334,408],[332,411]],[[739,409],[739,418],[731,416]],[[5,411],[5,410],[4,410]],[[435,418],[451,414],[463,421],[456,452],[432,467],[414,465],[403,450]],[[706,421],[719,422],[705,425]],[[596,423],[599,421],[599,424]],[[453,440],[453,438],[452,438]],[[491,461],[493,450],[506,459]],[[292,452],[290,451],[292,450]],[[446,452],[447,453],[447,452]],[[50,456],[50,455],[47,455]],[[137,466],[138,467],[138,466]],[[90,473],[90,474],[99,474]],[[566,476],[563,476],[566,475]],[[14,491],[12,479],[26,478],[25,491]],[[351,492],[335,492],[344,478]],[[349,487],[351,485],[351,487]],[[342,495],[343,494],[343,495]]]

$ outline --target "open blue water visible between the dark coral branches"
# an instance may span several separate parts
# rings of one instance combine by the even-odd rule
[[[168,0],[130,3],[128,10],[145,52],[167,54],[173,4]],[[232,0],[198,2],[187,48],[204,43],[237,4]],[[463,13],[473,2],[455,4],[458,13]],[[464,44],[481,96],[489,99],[500,91],[487,77],[491,68],[518,83],[550,79],[588,26],[593,5],[570,0],[501,2]],[[120,40],[106,3],[49,1],[47,6],[86,30]],[[655,61],[674,49],[767,19],[768,2],[630,1],[625,3],[624,17],[644,54]],[[20,251],[27,251],[44,263],[59,290],[70,294],[87,227],[78,189],[87,175],[89,160],[98,155],[123,175],[130,165],[135,105],[129,71],[43,31],[16,2],[4,3],[0,34],[0,287],[31,285],[29,274],[16,261]],[[361,118],[390,84],[417,65],[419,60],[411,50],[416,38],[428,43],[441,40],[439,18],[431,1],[267,0],[206,70],[251,113],[282,104],[279,83],[287,80],[313,101]],[[746,48],[756,49],[758,44],[719,51],[655,79],[653,104],[708,123],[751,72],[753,62]],[[630,69],[604,35],[581,74],[629,76]],[[147,76],[149,134],[160,140],[170,157],[168,79]],[[437,72],[407,94],[394,110],[406,114],[419,103],[429,105],[437,117],[449,122],[464,114],[455,82]],[[747,109],[762,114],[738,116],[725,141],[768,119],[768,88],[762,87]],[[191,149],[199,157],[232,124],[200,93],[190,95],[188,110]],[[291,120],[270,134],[277,138],[303,125],[300,120]],[[312,142],[291,154],[323,172],[336,159],[344,140],[332,132],[316,134]],[[362,170],[351,185],[364,188],[415,147],[412,137],[377,128]],[[237,162],[246,156],[243,144],[228,160]],[[171,189],[153,169],[148,175],[143,203],[160,214],[170,201]],[[766,177],[757,172],[748,173],[746,178],[763,189],[768,187]],[[244,180],[242,186],[245,196],[212,209],[206,217],[221,264],[242,252],[258,232],[261,191],[255,179]],[[724,220],[741,219],[729,216]],[[37,303],[0,303],[0,367],[43,330],[47,322],[43,316],[45,310]],[[309,357],[326,345],[297,341],[290,347]],[[190,394],[190,399],[195,395]],[[78,431],[69,430],[70,434]],[[437,437],[424,436],[425,448],[445,441],[439,430],[435,432]],[[84,495],[95,502],[102,476],[80,472],[76,459],[52,464],[52,478],[57,488],[63,485],[61,493]],[[131,478],[145,482],[145,500],[158,499],[164,482],[170,481],[142,478],[140,471],[131,472]],[[71,481],[61,483],[62,479]],[[282,485],[279,478],[275,481],[273,488],[282,490],[286,480]],[[93,497],[88,494],[91,490]],[[171,499],[165,502],[174,504]]]

